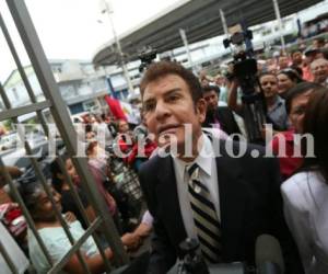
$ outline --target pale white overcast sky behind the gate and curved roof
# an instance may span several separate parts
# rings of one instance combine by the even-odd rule
[[[48,59],[92,59],[98,48],[113,38],[101,0],[25,0],[28,12]],[[112,0],[113,21],[117,34],[144,22],[180,0]],[[0,12],[8,24],[24,65],[27,55],[19,38],[4,0]],[[15,69],[7,43],[0,34],[0,81]]]

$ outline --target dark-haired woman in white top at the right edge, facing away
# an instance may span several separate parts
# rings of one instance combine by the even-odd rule
[[[281,186],[284,215],[306,273],[328,273],[328,90],[314,90],[303,133],[314,137],[315,157],[305,157],[300,171]],[[302,118],[302,117],[301,117]],[[309,149],[302,139],[303,152]]]

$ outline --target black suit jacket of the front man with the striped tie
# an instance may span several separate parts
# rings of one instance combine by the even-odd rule
[[[246,261],[254,265],[255,241],[258,236],[269,233],[280,240],[289,270],[286,273],[303,273],[283,219],[277,160],[263,158],[263,149],[258,146],[248,146],[244,157],[232,158],[224,149],[226,142],[218,140],[218,144],[221,155],[216,158],[216,169],[223,261]],[[236,153],[236,142],[233,142],[233,149]],[[253,149],[259,151],[259,158],[250,157]],[[172,158],[152,158],[141,167],[139,176],[149,210],[154,217],[149,273],[166,273],[181,255],[178,246],[187,237]]]

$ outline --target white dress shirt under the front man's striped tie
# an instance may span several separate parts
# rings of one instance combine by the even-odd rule
[[[192,163],[195,162],[199,165],[199,180],[208,187],[219,220],[221,220],[216,162],[215,162],[215,157],[213,157],[214,150],[211,140],[206,136],[206,134],[202,134],[201,138],[203,138],[203,144],[199,156],[195,159],[194,162],[184,162],[177,158],[173,158],[175,178],[177,182],[177,194],[178,194],[183,221],[186,228],[187,236],[194,239],[197,239],[197,231],[196,231],[191,206],[190,206],[189,192],[188,192],[189,175],[187,173],[186,167],[191,167]]]

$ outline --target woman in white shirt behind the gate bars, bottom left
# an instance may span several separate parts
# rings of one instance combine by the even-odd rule
[[[48,250],[51,262],[54,264],[60,262],[65,254],[70,251],[71,242],[69,241],[67,233],[65,232],[59,219],[57,218],[57,215],[55,214],[49,196],[46,194],[44,187],[38,182],[23,183],[20,185],[19,190],[25,203],[25,206],[27,207],[34,220],[37,232],[44,241],[46,249]],[[52,193],[57,209],[61,212],[60,194],[52,187],[50,187],[50,191]],[[78,241],[85,232],[80,221],[78,221],[71,213],[67,213],[65,215],[65,219],[68,224],[73,239]],[[125,246],[131,246],[130,242],[133,242],[134,237],[136,236],[132,236],[131,233],[126,233],[121,237],[121,241]],[[30,229],[27,231],[27,242],[30,259],[36,272],[38,274],[48,273],[51,266],[48,263],[34,233]],[[81,244],[80,251],[90,270],[90,273],[104,273],[105,262],[99,254],[92,237],[89,237]],[[108,261],[114,258],[114,254],[109,248],[106,248],[104,250],[104,253]],[[2,272],[0,271],[0,273]],[[78,259],[78,255],[74,253],[69,258],[59,273],[84,274],[85,272]]]

